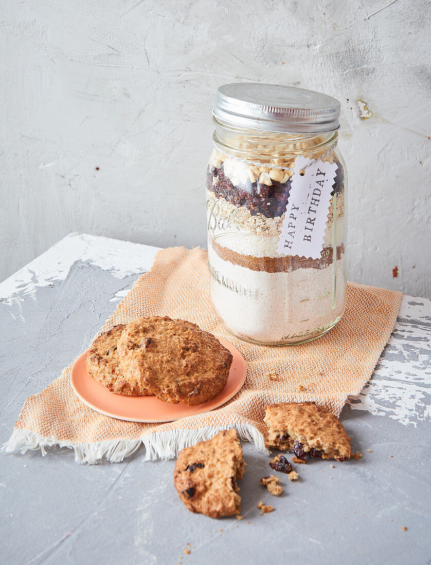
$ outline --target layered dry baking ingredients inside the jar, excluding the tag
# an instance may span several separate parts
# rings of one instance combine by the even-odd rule
[[[328,133],[237,136],[213,150],[206,171],[210,292],[219,318],[239,337],[303,342],[343,314],[344,174],[333,140]],[[278,252],[292,181],[303,173],[295,168],[299,155],[338,165],[319,259]]]

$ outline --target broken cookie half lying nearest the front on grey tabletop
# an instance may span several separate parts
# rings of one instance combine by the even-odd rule
[[[245,472],[243,450],[234,429],[219,432],[180,451],[174,485],[184,505],[210,518],[240,514],[236,484]]]

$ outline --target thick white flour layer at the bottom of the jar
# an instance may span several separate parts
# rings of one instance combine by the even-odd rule
[[[300,342],[324,332],[344,311],[346,277],[341,260],[324,269],[269,273],[221,259],[211,245],[208,258],[213,306],[226,327],[239,336]]]

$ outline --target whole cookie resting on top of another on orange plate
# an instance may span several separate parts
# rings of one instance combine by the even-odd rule
[[[226,386],[232,355],[212,334],[161,316],[127,324],[118,340],[120,368],[133,388],[169,403],[196,406]]]

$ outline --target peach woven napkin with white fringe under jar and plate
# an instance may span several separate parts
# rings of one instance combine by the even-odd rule
[[[185,446],[235,427],[265,449],[266,403],[313,400],[339,415],[348,396],[360,393],[389,340],[401,293],[348,284],[341,321],[325,336],[304,345],[252,345],[230,336],[213,314],[208,292],[206,251],[171,247],[159,251],[152,269],[133,285],[102,331],[140,316],[167,315],[190,320],[227,338],[247,362],[243,388],[216,410],[169,423],[141,424],[109,418],[84,405],[70,384],[71,366],[36,396],[28,398],[6,451],[52,445],[75,450],[81,463],[103,457],[120,461],[143,444],[144,460],[173,458]],[[268,372],[280,379],[269,380]]]

